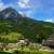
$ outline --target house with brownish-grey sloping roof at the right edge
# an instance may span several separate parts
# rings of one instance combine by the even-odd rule
[[[42,45],[54,48],[54,31],[53,31],[52,36],[50,36],[49,39],[42,41]]]

